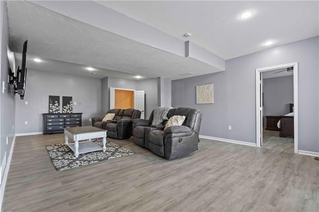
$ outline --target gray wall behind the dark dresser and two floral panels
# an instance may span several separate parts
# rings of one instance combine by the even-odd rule
[[[49,96],[73,97],[73,112],[83,112],[82,126],[101,113],[101,80],[74,75],[28,70],[24,100],[16,97],[16,133],[43,131],[42,113],[48,112]],[[28,101],[28,105],[24,102]],[[28,125],[24,125],[24,121]]]

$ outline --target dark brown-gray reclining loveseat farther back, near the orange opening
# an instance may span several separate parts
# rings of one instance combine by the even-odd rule
[[[133,134],[132,119],[140,118],[141,111],[138,109],[109,109],[106,113],[115,113],[113,120],[102,122],[103,117],[93,117],[92,126],[106,129],[107,136],[117,139],[127,139]]]

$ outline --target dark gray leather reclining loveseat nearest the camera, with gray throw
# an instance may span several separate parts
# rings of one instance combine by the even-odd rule
[[[202,116],[198,109],[188,107],[170,109],[167,113],[168,118],[173,115],[185,115],[186,118],[181,126],[170,126],[166,130],[163,130],[165,122],[162,126],[152,125],[153,112],[149,120],[133,120],[133,140],[136,144],[168,160],[185,156],[198,149]]]

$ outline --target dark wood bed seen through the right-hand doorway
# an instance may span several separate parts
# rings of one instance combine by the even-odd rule
[[[290,104],[290,112],[280,116],[277,123],[280,137],[294,137],[294,104]]]

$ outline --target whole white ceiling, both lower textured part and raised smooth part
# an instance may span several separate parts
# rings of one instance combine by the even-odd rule
[[[134,75],[180,79],[190,77],[183,76],[188,72],[197,76],[221,71],[196,59],[154,48],[143,40],[120,36],[31,2],[6,3],[11,51],[21,52],[22,44],[27,39],[28,57],[42,57],[44,60],[42,64],[31,64],[28,60],[29,69],[32,67],[100,79],[105,76],[130,79]],[[191,32],[193,43],[224,59],[270,48],[262,45],[267,39],[274,40],[273,46],[277,46],[319,35],[318,1],[99,3],[97,5],[103,8],[110,7],[153,26],[175,40],[185,41],[182,35]],[[253,9],[254,16],[240,20],[238,15],[246,9]],[[78,11],[79,14],[81,12]],[[107,22],[112,23],[112,20]],[[132,28],[132,33],[134,30]],[[147,35],[148,31],[142,33]],[[160,36],[157,39],[161,41]],[[83,71],[85,66],[95,67],[99,70],[99,76]],[[131,74],[123,75],[123,72]]]

